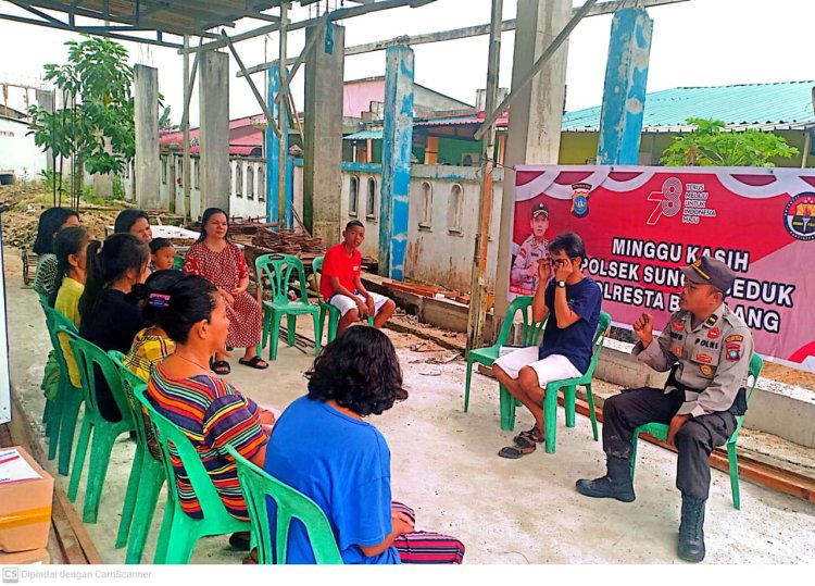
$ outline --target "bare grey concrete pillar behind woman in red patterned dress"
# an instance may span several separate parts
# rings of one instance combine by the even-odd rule
[[[204,51],[199,57],[201,119],[201,209],[229,213],[229,55]]]

